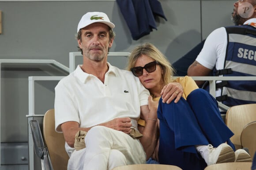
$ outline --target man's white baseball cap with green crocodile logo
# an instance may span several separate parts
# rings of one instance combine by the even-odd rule
[[[112,29],[115,28],[115,25],[109,21],[109,17],[107,14],[103,12],[87,12],[86,14],[83,15],[83,17],[78,23],[77,33],[79,32],[80,29],[95,22],[101,22],[106,25],[109,25],[109,27]]]

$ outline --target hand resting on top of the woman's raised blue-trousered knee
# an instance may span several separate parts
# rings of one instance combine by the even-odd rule
[[[160,94],[162,95],[163,103],[169,104],[174,98],[176,98],[174,103],[177,103],[181,99],[183,92],[181,84],[173,82],[165,85]]]

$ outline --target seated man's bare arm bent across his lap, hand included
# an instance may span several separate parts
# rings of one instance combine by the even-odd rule
[[[120,130],[126,134],[130,134],[132,131],[131,119],[128,117],[115,118],[113,120],[110,120],[109,122],[98,124],[97,126],[105,126],[105,127],[109,127],[109,128],[115,129],[115,130]],[[61,124],[61,130],[63,131],[65,141],[72,148],[74,148],[74,144],[75,144],[75,134],[79,130],[88,132],[91,128],[92,127],[81,128],[81,127],[79,127],[79,123],[74,122],[74,121],[69,121],[69,122],[65,122],[65,123]]]

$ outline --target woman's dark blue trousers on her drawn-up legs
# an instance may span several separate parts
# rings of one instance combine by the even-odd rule
[[[178,103],[158,104],[160,120],[159,163],[183,170],[203,170],[207,164],[196,152],[195,145],[214,147],[233,136],[222,120],[216,100],[203,89],[196,89]]]

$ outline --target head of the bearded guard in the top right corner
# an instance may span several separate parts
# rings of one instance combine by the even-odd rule
[[[231,17],[233,23],[243,25],[251,18],[256,18],[256,0],[237,0]]]

